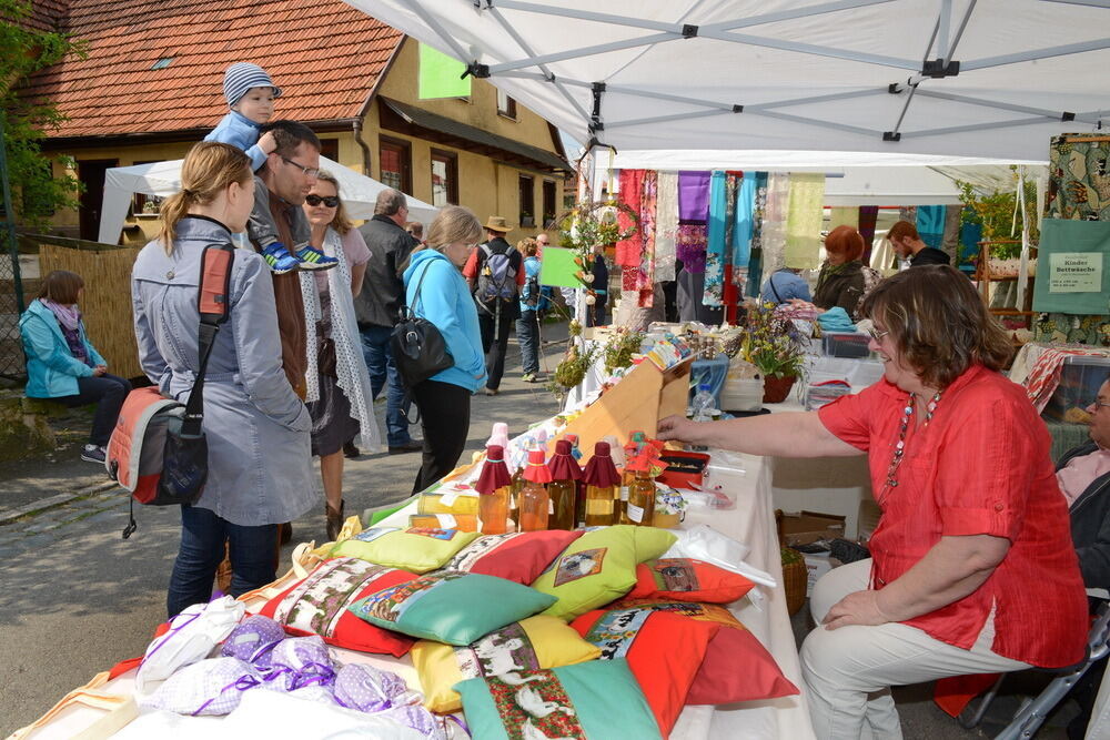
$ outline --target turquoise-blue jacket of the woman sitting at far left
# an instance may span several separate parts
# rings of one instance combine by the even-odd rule
[[[84,343],[89,362],[108,365],[97,348],[89,342],[84,322],[77,328]],[[92,367],[73,356],[62,327],[41,301],[36,298],[19,317],[19,333],[23,337],[23,354],[27,355],[27,388],[31,398],[58,398],[75,396],[79,391],[77,379],[91,377]]]

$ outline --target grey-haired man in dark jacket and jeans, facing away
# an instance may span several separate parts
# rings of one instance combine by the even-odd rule
[[[408,254],[420,243],[405,231],[407,217],[408,202],[404,193],[387,189],[377,194],[374,217],[359,227],[370,247],[370,262],[362,292],[354,300],[354,311],[374,397],[387,386],[385,430],[391,455],[423,449],[423,445],[410,436],[408,423],[402,415],[405,388],[390,349],[390,334],[404,300],[401,274]],[[357,455],[350,444],[344,446],[344,452]]]

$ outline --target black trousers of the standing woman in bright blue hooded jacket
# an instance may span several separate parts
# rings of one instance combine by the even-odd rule
[[[454,383],[424,381],[413,388],[424,429],[424,457],[413,493],[455,469],[471,428],[471,392]]]

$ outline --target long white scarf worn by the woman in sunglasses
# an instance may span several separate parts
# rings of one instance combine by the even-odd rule
[[[374,418],[374,395],[370,387],[370,371],[362,354],[359,324],[354,316],[354,298],[351,296],[351,267],[343,252],[343,241],[339,232],[329,227],[321,249],[325,255],[335,257],[337,265],[327,271],[327,293],[332,304],[332,342],[335,343],[336,385],[351,404],[351,414],[359,420],[360,447],[376,450],[381,447],[381,434]],[[311,273],[302,272],[301,295],[304,298],[305,325],[311,328],[309,337],[309,369],[305,382],[309,397],[320,398],[320,378],[316,369],[315,323],[320,321],[320,296],[316,281]],[[310,310],[311,303],[311,310]]]

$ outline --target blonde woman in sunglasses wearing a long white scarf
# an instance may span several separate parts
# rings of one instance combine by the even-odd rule
[[[343,445],[360,435],[364,448],[380,444],[354,316],[354,296],[362,291],[370,249],[347,219],[334,175],[324,171],[316,175],[303,207],[312,230],[310,244],[339,263],[324,273],[301,274],[305,325],[316,338],[307,345],[312,454],[320,457],[327,538],[334,540],[343,526]]]

